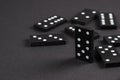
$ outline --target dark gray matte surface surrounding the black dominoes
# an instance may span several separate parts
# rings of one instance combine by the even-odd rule
[[[0,0],[0,80],[120,80],[120,67],[105,69],[96,62],[76,60],[74,39],[68,35],[66,45],[25,46],[29,35],[41,33],[32,29],[38,19],[53,14],[70,19],[84,8],[114,12],[120,21],[120,0]],[[68,25],[48,33],[61,32]],[[94,22],[87,26],[102,36],[120,33],[120,29],[98,30]]]

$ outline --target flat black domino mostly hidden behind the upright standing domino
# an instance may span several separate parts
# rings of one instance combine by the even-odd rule
[[[65,28],[65,32],[67,34],[69,34],[70,36],[75,37],[75,27],[76,27],[76,25],[70,25]],[[100,37],[100,35],[94,31],[94,40],[98,39],[99,37]]]

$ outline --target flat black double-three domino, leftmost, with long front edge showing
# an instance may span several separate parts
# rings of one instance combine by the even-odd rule
[[[43,34],[30,36],[29,43],[31,46],[50,46],[63,45],[66,41],[63,34]]]

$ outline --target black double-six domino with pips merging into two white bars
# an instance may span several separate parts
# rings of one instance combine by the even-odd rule
[[[100,29],[116,29],[114,13],[100,13],[98,15],[98,26]]]

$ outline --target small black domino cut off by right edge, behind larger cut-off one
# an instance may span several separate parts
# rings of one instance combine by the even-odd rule
[[[103,41],[108,44],[114,45],[114,47],[119,47],[120,46],[120,34],[104,36]]]

